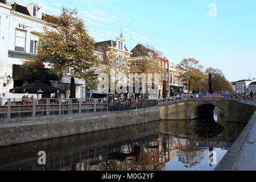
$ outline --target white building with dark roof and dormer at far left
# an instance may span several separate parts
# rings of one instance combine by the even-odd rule
[[[0,94],[2,98],[21,98],[24,94],[9,93],[10,89],[22,86],[41,79],[47,84],[56,86],[57,78],[46,73],[47,65],[42,65],[35,72],[27,71],[20,67],[23,61],[29,61],[31,55],[35,55],[38,38],[32,31],[43,31],[45,13],[43,7],[30,3],[24,5],[19,2],[7,2],[0,0]],[[66,91],[61,97],[69,97],[69,84],[71,77],[67,68],[63,77],[61,89]],[[29,73],[28,73],[29,72]],[[8,76],[11,80],[8,82]],[[76,97],[85,97],[85,81],[75,79]],[[31,94],[30,94],[31,95]]]

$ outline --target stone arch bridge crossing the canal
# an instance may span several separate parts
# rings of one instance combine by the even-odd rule
[[[253,115],[256,106],[233,100],[188,100],[168,102],[159,106],[160,119],[196,119],[206,115],[213,115],[218,107],[218,114],[225,121],[247,122]]]

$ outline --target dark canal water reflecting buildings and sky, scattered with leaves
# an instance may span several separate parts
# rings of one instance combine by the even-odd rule
[[[245,125],[215,115],[0,147],[0,170],[213,170]]]

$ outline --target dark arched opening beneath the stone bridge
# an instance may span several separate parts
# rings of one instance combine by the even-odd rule
[[[196,119],[204,116],[213,116],[215,107],[220,109],[220,114],[224,116],[224,119],[228,118],[228,111],[225,107],[221,106],[221,104],[218,104],[217,101],[201,101],[193,105],[189,111],[188,117],[189,119]]]

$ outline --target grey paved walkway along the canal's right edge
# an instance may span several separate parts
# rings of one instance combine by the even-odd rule
[[[214,170],[256,171],[256,111]]]

